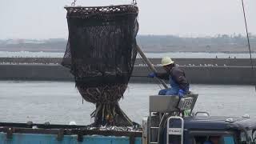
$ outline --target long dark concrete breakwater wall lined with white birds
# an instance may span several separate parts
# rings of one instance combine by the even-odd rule
[[[73,81],[69,70],[60,65],[62,58],[0,58],[0,80]],[[157,70],[160,59],[150,59]],[[254,84],[250,59],[200,59],[177,58],[178,65],[186,71],[190,83],[202,84]],[[255,62],[255,59],[254,61]],[[137,59],[130,82],[156,82],[147,78],[150,70]]]

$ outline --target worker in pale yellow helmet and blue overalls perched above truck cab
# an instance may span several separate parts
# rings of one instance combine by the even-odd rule
[[[166,70],[166,73],[150,73],[148,76],[150,78],[161,78],[170,80],[170,88],[160,90],[159,95],[178,95],[180,97],[184,96],[189,92],[190,84],[186,79],[183,70],[175,66],[174,61],[170,57],[162,58],[162,66]]]

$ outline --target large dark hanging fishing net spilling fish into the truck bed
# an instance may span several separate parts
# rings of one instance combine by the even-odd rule
[[[138,7],[66,7],[69,38],[62,66],[70,69],[94,126],[132,126],[118,105],[137,55]]]

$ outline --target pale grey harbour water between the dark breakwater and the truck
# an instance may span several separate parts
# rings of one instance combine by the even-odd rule
[[[0,82],[0,122],[29,122],[78,125],[93,122],[90,114],[94,105],[84,101],[74,82]],[[199,94],[194,111],[211,115],[256,117],[254,86],[191,85]],[[141,123],[148,115],[149,96],[158,93],[157,84],[130,83],[123,99],[122,110],[134,121]]]

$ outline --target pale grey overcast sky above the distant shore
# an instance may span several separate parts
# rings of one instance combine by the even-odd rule
[[[256,1],[244,0],[249,31],[256,34]],[[73,0],[0,0],[0,39],[67,38],[66,10]],[[78,0],[80,6],[128,0]],[[138,0],[139,34],[206,36],[245,34],[241,0]]]

